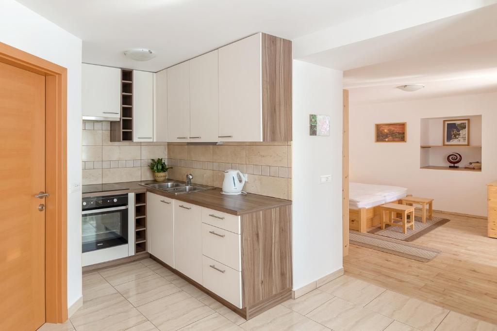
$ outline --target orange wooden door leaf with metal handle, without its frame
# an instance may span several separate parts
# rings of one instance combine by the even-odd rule
[[[0,63],[0,330],[45,322],[45,76]]]

